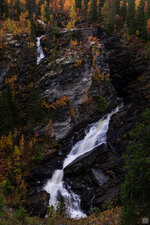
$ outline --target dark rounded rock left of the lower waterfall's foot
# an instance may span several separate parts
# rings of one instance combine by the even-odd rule
[[[46,191],[40,191],[27,197],[26,207],[31,215],[45,216],[50,195]]]

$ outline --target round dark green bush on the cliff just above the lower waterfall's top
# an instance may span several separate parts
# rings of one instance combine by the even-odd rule
[[[108,107],[108,102],[105,97],[103,96],[94,96],[93,97],[98,112],[104,112],[106,108]]]

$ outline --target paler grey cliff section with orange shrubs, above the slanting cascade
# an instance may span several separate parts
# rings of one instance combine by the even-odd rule
[[[71,34],[68,31],[61,32],[58,40],[60,43],[62,40],[67,40],[65,48],[61,46],[61,50],[52,61],[47,58],[40,65],[39,85],[42,88],[43,97],[48,103],[52,103],[62,96],[67,96],[70,104],[65,110],[62,109],[56,118],[53,118],[54,134],[58,141],[66,137],[74,127],[85,121],[88,123],[94,121],[96,117],[104,113],[103,106],[101,112],[98,112],[96,96],[106,98],[109,102],[108,111],[118,104],[116,92],[110,81],[106,81],[105,78],[100,81],[94,80],[97,70],[104,73],[104,77],[109,77],[109,66],[103,45],[94,40],[88,42],[88,37],[96,34],[96,31],[96,29],[81,29],[74,30]],[[79,32],[80,36],[78,36]],[[77,39],[72,41],[70,35]],[[47,46],[46,39],[43,42],[43,45]],[[74,111],[74,118],[71,115],[71,109]]]

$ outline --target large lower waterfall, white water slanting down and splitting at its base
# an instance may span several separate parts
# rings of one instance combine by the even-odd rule
[[[86,215],[81,211],[80,197],[72,191],[68,192],[64,188],[64,168],[79,156],[91,151],[101,144],[106,143],[110,118],[113,114],[117,113],[119,109],[120,107],[117,107],[114,111],[103,117],[100,121],[90,125],[90,129],[85,131],[86,136],[84,137],[84,139],[77,142],[73,146],[71,152],[67,155],[63,163],[63,169],[55,170],[52,178],[48,180],[47,184],[44,187],[44,190],[50,193],[49,204],[51,206],[53,205],[54,207],[57,207],[59,194],[63,196],[67,206],[67,213],[72,218],[81,218],[85,217]]]

